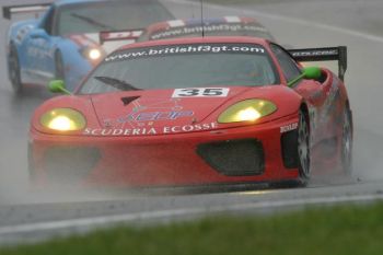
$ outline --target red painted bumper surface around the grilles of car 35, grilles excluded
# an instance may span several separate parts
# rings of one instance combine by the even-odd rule
[[[33,158],[39,165],[34,174],[39,184],[49,183],[44,165],[46,150],[53,147],[76,144],[98,148],[102,158],[89,175],[80,181],[95,186],[184,186],[204,184],[228,184],[243,182],[287,181],[298,177],[298,170],[287,170],[281,160],[280,127],[297,123],[297,116],[279,119],[272,124],[217,131],[192,132],[188,135],[166,135],[152,137],[63,137],[40,136],[32,131]],[[200,143],[230,139],[256,138],[265,150],[265,172],[255,176],[224,176],[196,154]]]

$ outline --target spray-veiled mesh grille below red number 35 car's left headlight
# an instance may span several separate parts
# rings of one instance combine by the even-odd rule
[[[50,181],[82,181],[100,160],[95,148],[54,147],[45,154],[45,169]]]

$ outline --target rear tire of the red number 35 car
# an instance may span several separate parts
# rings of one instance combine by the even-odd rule
[[[341,150],[340,166],[343,173],[351,175],[352,173],[352,142],[353,142],[352,113],[350,107],[346,105],[344,113],[344,121],[341,128]]]

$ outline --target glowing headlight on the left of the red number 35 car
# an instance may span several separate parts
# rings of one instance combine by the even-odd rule
[[[40,124],[51,130],[77,131],[86,126],[84,116],[71,108],[55,108],[40,117]]]

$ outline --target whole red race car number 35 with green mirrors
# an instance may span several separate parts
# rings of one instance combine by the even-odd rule
[[[37,184],[187,186],[297,182],[315,162],[348,172],[346,47],[253,37],[152,40],[114,51],[32,118]],[[297,61],[338,60],[338,77]],[[336,167],[340,166],[340,167]]]

